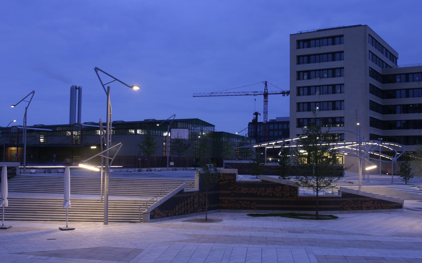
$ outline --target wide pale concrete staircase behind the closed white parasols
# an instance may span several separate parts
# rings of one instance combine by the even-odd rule
[[[192,182],[194,180],[110,178],[108,221],[139,222],[139,206],[169,187],[172,191],[183,183],[191,185]],[[66,220],[66,209],[62,208],[63,176],[17,175],[8,180],[8,190],[5,220]],[[70,199],[69,221],[103,221],[100,178],[71,177],[70,192],[74,196]],[[141,212],[152,204],[153,201],[149,201]]]

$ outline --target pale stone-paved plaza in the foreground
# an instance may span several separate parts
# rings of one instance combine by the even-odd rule
[[[157,223],[19,222],[0,230],[0,262],[420,263],[422,203],[404,212],[340,214],[336,220],[211,213]]]

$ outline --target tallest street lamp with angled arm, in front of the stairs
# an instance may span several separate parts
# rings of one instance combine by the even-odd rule
[[[119,81],[123,85],[125,85],[129,88],[135,89],[135,90],[139,89],[139,86],[136,86],[136,85],[129,86],[126,83],[124,83],[123,81],[120,81],[119,79],[114,78],[112,75],[108,74],[107,72],[105,72],[103,70],[100,70],[97,67],[95,67],[94,70],[95,70],[95,73],[97,74],[98,79],[100,80],[101,86],[103,86],[103,89],[104,89],[104,91],[106,91],[106,94],[107,94],[107,118],[106,118],[107,124],[106,124],[106,134],[105,134],[106,150],[102,151],[101,153],[105,152],[105,155],[102,156],[102,157],[106,158],[106,163],[105,163],[106,171],[104,173],[104,180],[105,180],[105,182],[104,182],[104,225],[108,225],[108,174],[110,173],[110,166],[111,166],[111,164],[110,165],[108,164],[108,160],[110,159],[109,158],[109,149],[110,149],[110,145],[111,145],[111,117],[112,117],[111,115],[112,114],[111,114],[111,102],[110,102],[110,86],[107,86],[107,89],[106,89],[106,85],[110,84],[114,81]],[[104,84],[103,81],[100,78],[100,75],[98,74],[98,71],[103,72],[104,74],[108,75],[109,77],[113,78],[114,80]],[[114,156],[116,156],[116,155],[114,155]],[[87,161],[87,160],[85,160],[85,161]],[[101,166],[103,166],[103,164],[101,164]]]

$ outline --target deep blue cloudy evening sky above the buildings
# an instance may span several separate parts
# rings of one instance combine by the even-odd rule
[[[71,85],[83,87],[82,121],[104,120],[99,67],[141,87],[111,83],[113,120],[176,113],[217,131],[239,132],[255,110],[262,113],[263,96],[192,94],[262,81],[289,89],[289,34],[300,30],[367,24],[399,53],[398,64],[422,63],[421,9],[420,0],[3,0],[0,126],[13,119],[22,125],[25,105],[10,105],[32,90],[28,125],[68,123]],[[263,89],[257,84],[233,91]],[[270,95],[268,118],[288,115],[289,97]]]

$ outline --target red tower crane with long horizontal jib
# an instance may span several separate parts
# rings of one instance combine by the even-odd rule
[[[279,90],[279,91],[268,91],[268,86],[267,86],[267,81],[263,81],[260,83],[265,83],[265,88],[264,91],[238,91],[238,92],[211,92],[211,93],[194,93],[193,97],[216,97],[216,96],[246,96],[246,95],[253,95],[253,96],[257,96],[257,95],[264,95],[264,132],[263,132],[263,139],[264,142],[268,141],[268,95],[273,95],[273,94],[282,94],[283,96],[289,96],[290,91],[284,91],[284,90]],[[255,83],[258,84],[258,83]],[[251,85],[255,85],[255,84],[251,84]],[[270,83],[271,84],[271,83]],[[273,84],[271,84],[273,85]],[[246,86],[250,86],[250,85],[246,85]],[[243,86],[243,87],[246,87]],[[273,85],[274,86],[274,85]],[[279,87],[275,86],[276,88],[279,89]],[[241,87],[239,87],[241,88]],[[235,88],[237,89],[237,88]],[[255,130],[255,132],[257,132]]]

